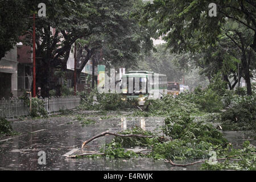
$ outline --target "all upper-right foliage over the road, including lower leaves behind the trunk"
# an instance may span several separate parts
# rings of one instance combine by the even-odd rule
[[[210,1],[153,1],[146,3],[138,17],[142,24],[158,24],[155,31],[167,42],[172,52],[189,53],[179,64],[186,67],[200,67],[201,74],[209,79],[218,72],[233,89],[233,78],[237,81],[238,63],[240,76],[246,78],[247,94],[251,94],[250,75],[255,69],[255,11],[250,1],[221,1],[214,3],[221,7],[216,17],[208,15]],[[218,12],[218,10],[217,10]],[[142,17],[142,18],[141,18]],[[235,82],[236,84],[236,82]]]

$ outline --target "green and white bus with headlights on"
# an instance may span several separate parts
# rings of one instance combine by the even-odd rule
[[[129,71],[122,75],[123,99],[138,99],[139,105],[146,100],[162,98],[167,94],[167,77],[148,71]]]

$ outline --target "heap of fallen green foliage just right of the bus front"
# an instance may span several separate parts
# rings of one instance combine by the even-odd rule
[[[221,96],[211,89],[202,90],[200,87],[194,93],[183,92],[175,98],[167,95],[162,100],[148,100],[146,105],[150,102],[148,112],[135,111],[134,115],[201,115],[204,112],[218,112],[223,108]]]

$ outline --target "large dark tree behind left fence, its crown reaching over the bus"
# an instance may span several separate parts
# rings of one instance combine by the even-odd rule
[[[143,44],[150,45],[145,28],[130,14],[142,2],[130,1],[40,1],[46,3],[46,17],[36,19],[36,84],[42,85],[42,96],[48,96],[50,78],[55,68],[66,68],[69,53],[77,40],[81,72],[96,52],[105,48],[111,61],[133,61]],[[35,2],[39,3],[39,1]],[[50,31],[55,28],[55,34]]]

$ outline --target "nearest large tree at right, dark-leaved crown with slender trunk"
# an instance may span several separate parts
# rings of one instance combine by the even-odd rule
[[[208,7],[212,1],[155,0],[145,7],[144,22],[154,19],[161,24],[159,35],[173,52],[196,52],[214,46],[221,34],[225,34],[240,49],[243,77],[247,94],[251,94],[250,64],[256,51],[255,2],[215,1],[217,16],[210,17]],[[230,32],[225,27],[232,20],[239,25]],[[234,32],[234,34],[232,33]]]

